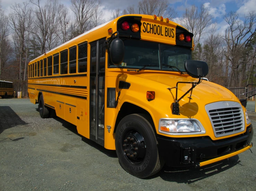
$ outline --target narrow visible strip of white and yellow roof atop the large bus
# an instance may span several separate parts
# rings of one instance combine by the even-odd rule
[[[97,26],[97,27],[95,27],[95,28],[93,28],[93,29],[91,29],[91,30],[89,30],[89,31],[86,31],[86,32],[80,34],[79,36],[77,36],[77,37],[75,37],[75,38],[73,38],[73,39],[71,39],[71,40],[69,40],[69,41],[67,41],[67,42],[65,42],[65,43],[63,43],[63,44],[61,44],[61,45],[59,45],[58,47],[55,47],[54,49],[49,50],[48,52],[46,52],[46,53],[44,53],[44,54],[48,54],[48,53],[50,53],[50,52],[52,52],[52,51],[54,51],[54,50],[56,50],[56,49],[58,49],[58,48],[64,46],[65,44],[68,44],[68,43],[70,43],[70,42],[72,42],[72,41],[74,41],[74,40],[76,40],[76,39],[79,39],[80,37],[85,36],[86,34],[92,32],[92,31],[95,31],[95,30],[97,30],[97,29],[99,29],[99,28],[101,28],[101,27],[104,27],[104,26],[106,26],[106,25],[107,25],[108,23],[110,23],[110,22],[114,22],[114,23],[115,23],[118,19],[120,19],[120,18],[122,18],[122,17],[126,17],[126,16],[136,16],[136,17],[143,17],[143,18],[147,18],[147,19],[152,19],[152,20],[154,20],[154,18],[152,17],[152,15],[147,15],[147,14],[126,14],[126,15],[122,15],[122,16],[120,16],[120,17],[115,18],[114,20],[111,20],[111,21],[106,22],[106,23],[104,23],[104,24],[101,24],[101,25],[99,25],[99,26]],[[157,20],[159,20],[159,18],[157,18]],[[173,22],[173,21],[169,21],[169,23],[175,24],[175,25],[177,25],[177,26],[182,27],[181,25],[179,25],[179,24],[177,24],[177,23],[175,23],[175,22]],[[183,27],[183,28],[184,28],[184,27]],[[186,29],[186,28],[184,28],[184,29]],[[187,29],[186,29],[186,30],[187,30]],[[35,58],[35,59],[31,60],[31,61],[29,61],[29,63],[30,63],[30,62],[33,62],[33,61],[35,61],[35,60],[37,60],[38,58],[40,58],[40,57],[42,57],[42,56],[44,56],[44,54],[38,56],[37,58]]]

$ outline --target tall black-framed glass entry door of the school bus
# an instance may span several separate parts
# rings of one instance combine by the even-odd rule
[[[105,41],[90,43],[90,139],[104,146]]]

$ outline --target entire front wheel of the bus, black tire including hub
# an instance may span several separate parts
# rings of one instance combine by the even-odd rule
[[[127,115],[120,121],[115,146],[120,165],[135,177],[149,177],[164,164],[152,125],[141,114]]]

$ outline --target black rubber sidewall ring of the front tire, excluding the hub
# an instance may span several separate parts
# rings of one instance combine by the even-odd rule
[[[140,164],[132,164],[124,154],[122,144],[123,136],[131,129],[138,131],[144,138],[146,154]],[[117,126],[115,135],[116,153],[122,168],[138,178],[148,177],[154,170],[158,161],[156,137],[149,122],[140,115],[132,114],[123,118]]]

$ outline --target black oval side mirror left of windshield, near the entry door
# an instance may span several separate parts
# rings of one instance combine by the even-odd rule
[[[124,43],[121,39],[114,39],[109,48],[110,59],[114,65],[120,65],[124,60]]]

